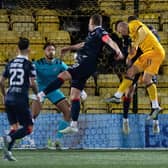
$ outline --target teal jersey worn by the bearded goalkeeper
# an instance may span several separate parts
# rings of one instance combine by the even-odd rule
[[[54,58],[52,62],[48,62],[45,58],[41,58],[34,62],[37,72],[37,84],[40,90],[45,89],[59,73],[68,69],[68,66],[61,60]]]

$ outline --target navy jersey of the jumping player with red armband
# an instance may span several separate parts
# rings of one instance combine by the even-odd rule
[[[90,62],[96,63],[104,43],[102,37],[107,34],[101,26],[97,26],[92,32],[89,32],[84,46],[77,52],[77,60],[80,62],[89,59]]]

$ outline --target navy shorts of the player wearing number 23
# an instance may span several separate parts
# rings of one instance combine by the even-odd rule
[[[17,122],[22,126],[33,125],[32,115],[28,104],[22,103],[6,103],[5,109],[10,125]]]

